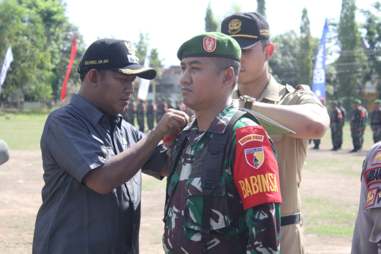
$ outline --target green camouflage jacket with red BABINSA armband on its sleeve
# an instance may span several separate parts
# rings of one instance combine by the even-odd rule
[[[223,133],[237,110],[233,104],[225,108],[205,132],[199,132],[197,119],[184,129],[190,130],[186,134],[186,146],[181,159],[176,162],[174,172],[167,179],[166,191],[170,198],[163,219],[163,248],[166,253],[203,253],[204,246],[200,242],[203,206],[200,177],[206,149],[213,133]],[[242,129],[251,133],[255,133],[255,129],[262,130],[264,135],[261,137],[264,140],[258,142],[267,152],[257,152],[257,156],[255,153],[248,153],[250,157],[247,154],[239,156],[236,151],[241,151],[241,148],[237,148],[236,144],[243,143],[244,138],[236,141],[236,137]],[[281,199],[274,144],[261,126],[245,117],[235,123],[228,140],[221,171],[223,174],[212,195],[210,246],[207,253],[279,253]],[[238,146],[243,146],[242,143]],[[260,150],[258,147],[251,148],[255,149]],[[270,167],[276,168],[277,177],[273,180],[270,180]],[[239,181],[237,177],[242,174],[246,178]],[[268,181],[265,180],[267,177]],[[260,195],[265,193],[267,198],[261,198]],[[279,195],[276,202],[269,198],[274,194]],[[253,198],[254,203],[247,203],[248,196]]]

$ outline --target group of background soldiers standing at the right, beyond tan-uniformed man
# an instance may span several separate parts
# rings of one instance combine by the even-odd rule
[[[337,151],[341,148],[343,143],[343,126],[346,116],[346,110],[342,106],[342,101],[333,101],[331,104],[331,138],[333,148],[332,151]],[[381,100],[374,101],[375,108],[373,109],[370,117],[370,127],[373,133],[373,141],[377,143],[381,140]],[[352,101],[353,110],[351,117],[351,137],[353,143],[353,150],[351,152],[360,152],[364,141],[364,131],[368,122],[368,111],[362,106],[359,99]]]

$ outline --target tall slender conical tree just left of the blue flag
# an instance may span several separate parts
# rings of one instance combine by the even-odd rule
[[[298,71],[296,74],[296,80],[298,84],[305,84],[311,87],[312,69],[314,65],[312,62],[312,37],[306,7],[303,8],[302,13],[302,20],[300,24],[299,52],[296,57],[296,69]]]

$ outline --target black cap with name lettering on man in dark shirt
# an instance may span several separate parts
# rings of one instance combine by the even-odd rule
[[[91,69],[110,69],[142,79],[156,77],[154,68],[139,64],[133,46],[126,40],[100,39],[91,43],[79,63],[78,73]]]

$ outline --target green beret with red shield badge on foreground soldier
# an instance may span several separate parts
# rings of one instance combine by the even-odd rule
[[[241,48],[236,40],[219,32],[196,35],[182,43],[177,51],[177,58],[193,56],[224,57],[239,61]]]

